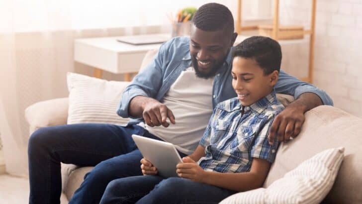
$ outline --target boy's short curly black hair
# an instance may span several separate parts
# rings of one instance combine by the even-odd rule
[[[270,37],[253,36],[243,40],[233,49],[233,58],[254,59],[263,69],[264,75],[280,71],[281,48],[277,41]]]

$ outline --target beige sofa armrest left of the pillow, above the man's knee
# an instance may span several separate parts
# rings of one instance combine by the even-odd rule
[[[68,98],[34,103],[25,109],[30,134],[40,127],[67,124]]]

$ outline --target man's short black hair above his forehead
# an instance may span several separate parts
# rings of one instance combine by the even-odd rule
[[[227,29],[234,32],[234,18],[228,7],[219,3],[206,3],[192,17],[193,24],[203,31]]]

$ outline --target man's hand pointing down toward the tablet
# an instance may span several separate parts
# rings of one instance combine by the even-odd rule
[[[174,113],[163,103],[156,100],[149,100],[144,104],[143,119],[149,126],[164,126],[168,127],[170,124],[166,122],[167,118],[170,118],[172,124],[175,124]]]

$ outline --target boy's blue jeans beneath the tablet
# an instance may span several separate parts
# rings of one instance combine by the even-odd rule
[[[110,182],[100,204],[217,204],[235,191],[160,176],[134,176]]]

